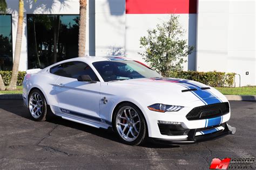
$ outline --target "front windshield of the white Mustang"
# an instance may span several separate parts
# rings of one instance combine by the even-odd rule
[[[105,82],[140,79],[144,77],[161,77],[156,71],[136,61],[98,61],[92,65],[97,69]]]

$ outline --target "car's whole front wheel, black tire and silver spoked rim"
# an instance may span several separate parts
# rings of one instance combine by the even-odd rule
[[[118,106],[113,121],[114,131],[119,139],[127,145],[139,145],[146,136],[145,118],[140,109],[132,103]]]

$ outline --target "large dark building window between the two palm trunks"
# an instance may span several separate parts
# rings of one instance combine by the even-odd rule
[[[78,56],[79,15],[27,15],[28,69]]]

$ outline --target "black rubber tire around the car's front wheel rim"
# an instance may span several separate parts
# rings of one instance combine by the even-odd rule
[[[140,121],[140,127],[139,127],[139,133],[136,133],[137,134],[137,137],[136,139],[132,140],[132,141],[127,141],[124,139],[124,137],[121,136],[121,132],[120,130],[118,130],[118,115],[120,114],[120,112],[122,112],[122,110],[124,108],[132,108],[134,109],[134,111],[137,112],[137,115],[139,117],[139,121]],[[133,114],[135,114],[135,112],[133,112]],[[117,120],[118,119],[118,120]],[[127,118],[126,118],[127,119]],[[135,119],[135,118],[134,118]],[[124,121],[124,120],[122,120]],[[113,130],[114,132],[116,132],[118,138],[120,139],[120,141],[126,145],[139,145],[139,144],[142,144],[144,141],[145,141],[145,137],[146,137],[146,121],[145,121],[145,118],[143,116],[143,113],[142,111],[134,104],[132,103],[129,103],[129,102],[125,102],[125,103],[122,103],[120,104],[116,109],[115,109],[115,112],[114,112],[114,117],[113,117]],[[127,122],[126,122],[127,123]],[[133,124],[134,125],[134,124]],[[125,126],[124,126],[125,127]],[[129,127],[134,127],[134,126],[129,126]],[[130,129],[129,129],[130,130]],[[135,134],[135,131],[131,129],[131,131],[133,131],[133,135]],[[130,134],[129,134],[130,135]],[[129,136],[128,135],[128,136]]]

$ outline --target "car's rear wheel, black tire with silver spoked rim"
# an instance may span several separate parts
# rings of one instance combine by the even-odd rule
[[[39,101],[42,101],[42,102],[38,103],[38,102],[34,101],[34,100],[36,100],[35,95],[36,95],[36,98],[38,98],[38,102]],[[32,98],[34,98],[34,100],[32,100]],[[32,105],[30,102],[32,102],[32,104],[34,104],[34,105]],[[30,112],[31,118],[37,122],[45,121],[46,115],[48,112],[48,105],[46,103],[43,93],[39,89],[34,89],[30,92],[29,98],[28,98],[28,104],[29,104],[28,110]],[[37,104],[42,105],[40,107],[40,109],[38,110],[38,114],[37,114],[36,109],[38,109],[39,107],[35,108],[35,109],[32,108],[32,107],[35,107],[35,105],[37,105]],[[35,111],[32,111],[32,110],[35,110]],[[36,112],[36,113],[34,113],[34,112]]]

